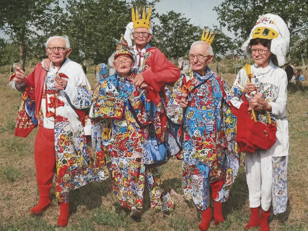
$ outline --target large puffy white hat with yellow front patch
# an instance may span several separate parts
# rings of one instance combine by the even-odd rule
[[[256,25],[250,32],[249,39],[241,47],[247,56],[251,57],[249,42],[256,38],[272,39],[270,51],[277,56],[278,65],[282,66],[286,63],[290,32],[282,18],[276,14],[264,14],[257,20]]]

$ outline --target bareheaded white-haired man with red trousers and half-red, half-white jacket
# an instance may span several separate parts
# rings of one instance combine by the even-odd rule
[[[68,37],[53,36],[46,42],[48,59],[38,63],[30,75],[19,68],[10,86],[23,92],[15,136],[27,137],[39,125],[34,143],[39,203],[31,208],[35,216],[50,208],[50,190],[56,173],[56,197],[60,201],[58,225],[66,226],[69,191],[99,179],[108,171],[104,159],[90,159],[82,111],[91,106],[91,87],[82,67],[68,58],[72,49]],[[47,64],[48,63],[48,64]],[[87,134],[86,132],[89,132]]]

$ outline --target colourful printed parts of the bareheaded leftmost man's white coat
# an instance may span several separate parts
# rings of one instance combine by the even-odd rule
[[[55,119],[56,197],[60,202],[69,202],[71,189],[94,180],[107,179],[108,170],[103,154],[91,159],[81,122],[58,98],[59,93],[54,87],[55,75],[47,76],[44,90],[46,115]],[[92,96],[87,86],[79,83],[75,91],[77,98],[73,100],[74,107],[80,110],[89,107]]]

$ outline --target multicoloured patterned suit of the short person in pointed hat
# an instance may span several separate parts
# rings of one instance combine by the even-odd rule
[[[141,212],[146,184],[150,193],[151,208],[170,210],[174,205],[167,194],[160,194],[158,170],[146,169],[143,164],[143,144],[149,139],[148,114],[144,106],[147,101],[144,93],[139,93],[132,84],[133,76],[121,78],[116,73],[100,80],[95,87],[90,110],[94,145],[96,152],[106,152],[106,160],[111,161],[112,189],[122,207],[131,209],[133,213]],[[121,119],[108,117],[99,110],[108,98],[113,97],[123,100],[123,104],[117,109],[123,110]],[[104,150],[104,146],[107,150]]]

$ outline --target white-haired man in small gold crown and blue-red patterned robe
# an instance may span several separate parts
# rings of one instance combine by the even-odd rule
[[[211,197],[215,225],[224,222],[222,202],[229,197],[240,158],[235,143],[236,117],[225,103],[228,86],[208,67],[214,59],[210,46],[214,35],[205,34],[204,29],[202,41],[192,44],[191,69],[174,85],[166,109],[174,123],[184,122],[182,184],[185,196],[202,210],[201,230],[207,230],[212,219]]]

